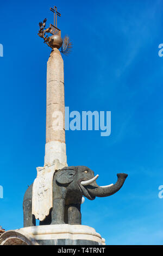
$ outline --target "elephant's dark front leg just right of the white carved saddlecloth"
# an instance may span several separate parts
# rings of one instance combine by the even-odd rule
[[[65,200],[54,199],[52,210],[52,224],[65,224],[64,222]]]

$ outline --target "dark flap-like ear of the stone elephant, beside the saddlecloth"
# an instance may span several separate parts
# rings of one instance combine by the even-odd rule
[[[73,181],[73,177],[76,174],[75,170],[61,170],[58,174],[57,174],[57,178],[56,180],[60,183],[60,184],[68,184],[71,183]]]

